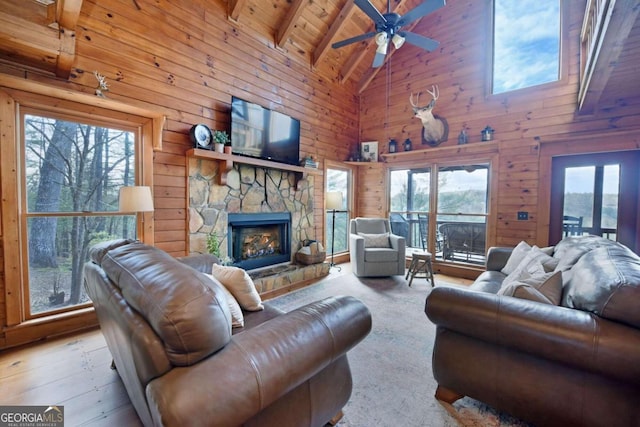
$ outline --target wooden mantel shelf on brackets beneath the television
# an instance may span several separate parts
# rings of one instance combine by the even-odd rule
[[[253,165],[261,168],[279,169],[287,172],[294,172],[296,177],[296,188],[298,182],[304,179],[307,174],[322,175],[323,172],[320,169],[305,168],[302,166],[288,165],[286,163],[273,162],[271,160],[262,160],[254,157],[236,156],[234,154],[218,153],[217,151],[209,151],[201,148],[192,148],[187,150],[187,157],[193,157],[196,159],[208,159],[215,160],[220,165],[220,185],[227,184],[227,174],[233,169],[234,163],[241,163],[245,165]]]

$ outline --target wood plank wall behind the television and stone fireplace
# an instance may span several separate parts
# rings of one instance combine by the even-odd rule
[[[175,256],[188,250],[188,131],[195,123],[228,129],[232,95],[299,118],[302,155],[342,160],[357,140],[353,85],[318,77],[308,63],[275,49],[272,39],[227,20],[226,10],[224,0],[84,0],[69,81],[0,64],[0,72],[89,94],[97,70],[106,76],[109,98],[166,114],[163,148],[154,153],[154,237],[156,246]],[[315,186],[318,233],[323,189]],[[0,321],[6,325],[3,277]]]

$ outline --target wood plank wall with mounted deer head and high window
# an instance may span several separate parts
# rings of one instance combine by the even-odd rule
[[[584,139],[573,152],[606,151],[613,135],[624,132],[627,149],[640,147],[640,99],[625,107],[595,116],[576,114],[579,32],[584,2],[573,0],[567,6],[563,40],[562,80],[500,96],[487,95],[489,55],[489,7],[485,1],[455,0],[422,21],[416,32],[440,42],[437,51],[426,53],[405,45],[391,59],[389,73],[381,70],[360,100],[361,141],[377,140],[388,152],[387,141],[402,142],[410,138],[414,149],[420,147],[421,123],[413,118],[409,104],[411,92],[430,89],[437,84],[440,98],[434,113],[449,123],[449,140],[434,150],[447,152],[457,144],[457,135],[465,127],[470,144],[480,144],[480,131],[487,125],[495,129],[499,147],[495,241],[489,244],[514,245],[520,240],[544,244],[548,224],[548,200],[539,200],[539,190],[549,185],[549,170],[540,169],[540,147],[570,140]],[[386,89],[390,88],[388,113],[385,111]],[[426,95],[428,97],[428,94]],[[426,103],[426,102],[425,102]],[[421,101],[421,104],[424,104]],[[388,127],[381,123],[388,121]],[[594,135],[599,135],[597,143]],[[591,137],[591,138],[590,138]],[[562,142],[560,142],[562,141]],[[615,150],[620,149],[616,145]],[[567,151],[570,154],[572,151]],[[450,151],[447,155],[450,154]],[[420,158],[420,156],[416,156]],[[388,166],[388,165],[387,165]],[[403,166],[406,166],[403,164]],[[415,161],[412,166],[420,166]],[[360,169],[361,182],[367,185],[360,198],[359,214],[386,215],[385,187],[374,185],[381,174],[368,166]],[[516,221],[517,211],[528,211],[529,221]],[[542,226],[540,226],[542,225]]]

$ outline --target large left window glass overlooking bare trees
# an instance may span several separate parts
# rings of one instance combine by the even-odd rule
[[[136,133],[22,109],[26,248],[25,317],[89,303],[88,249],[136,237],[136,216],[118,212],[120,187],[136,182]]]

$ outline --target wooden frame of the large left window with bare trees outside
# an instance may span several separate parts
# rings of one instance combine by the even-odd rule
[[[63,333],[96,324],[93,308],[74,306],[75,310],[48,312],[46,316],[30,319],[25,316],[22,256],[22,202],[18,185],[24,182],[20,163],[19,144],[22,141],[20,123],[22,108],[38,108],[58,114],[71,113],[83,120],[113,123],[122,128],[135,127],[139,135],[141,157],[140,185],[153,186],[153,152],[162,149],[162,128],[165,116],[159,112],[124,104],[111,99],[73,92],[42,83],[0,76],[0,187],[3,194],[2,226],[4,256],[4,340],[2,347],[19,345],[53,333]],[[139,213],[138,236],[145,243],[154,242],[153,213]],[[6,248],[15,247],[18,256],[8,256]]]

